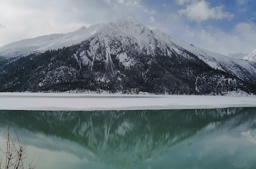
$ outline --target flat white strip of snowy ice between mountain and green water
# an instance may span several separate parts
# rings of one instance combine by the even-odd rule
[[[0,93],[0,110],[164,110],[225,107],[256,107],[256,97]]]

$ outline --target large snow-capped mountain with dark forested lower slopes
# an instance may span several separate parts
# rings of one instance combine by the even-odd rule
[[[209,52],[134,18],[0,48],[0,91],[256,94],[256,63]]]

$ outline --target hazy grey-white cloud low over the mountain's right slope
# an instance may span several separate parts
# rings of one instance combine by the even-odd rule
[[[216,53],[228,55],[230,53],[249,53],[255,46],[256,24],[239,23],[230,32],[208,27],[194,30],[195,35],[190,38],[201,48]]]

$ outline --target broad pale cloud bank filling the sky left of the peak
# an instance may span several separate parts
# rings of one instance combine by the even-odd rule
[[[156,13],[140,0],[0,1],[0,46],[24,38],[72,32],[82,25],[136,17],[150,22]],[[0,25],[3,28],[3,25]]]

